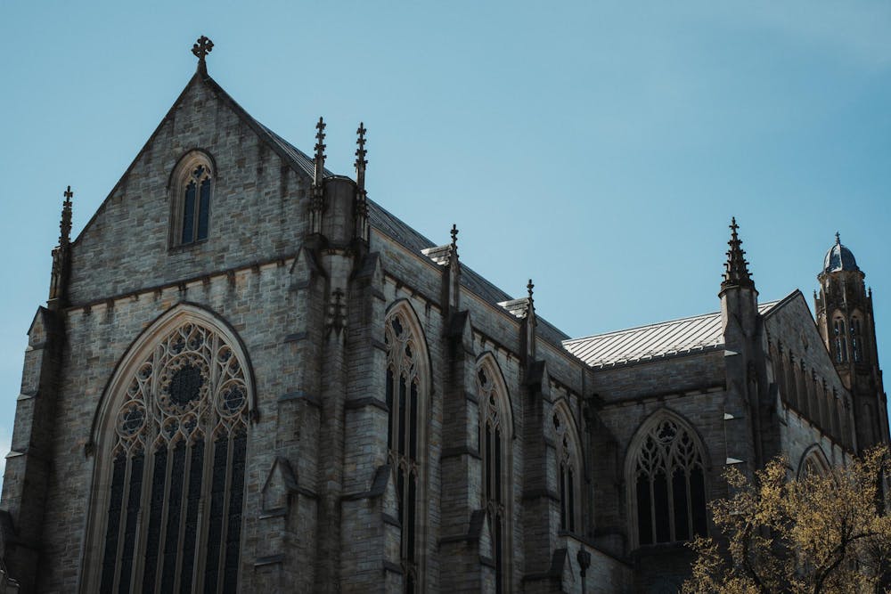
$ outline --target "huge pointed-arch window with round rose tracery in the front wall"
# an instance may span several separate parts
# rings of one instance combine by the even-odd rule
[[[185,321],[129,369],[110,411],[98,591],[234,592],[245,362],[216,330]]]

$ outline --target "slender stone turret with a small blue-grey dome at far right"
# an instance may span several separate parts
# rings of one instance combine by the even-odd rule
[[[836,242],[826,252],[817,275],[820,293],[814,294],[814,309],[823,342],[853,398],[859,451],[888,439],[887,396],[879,370],[872,289],[866,289],[864,278],[854,254],[836,233]]]

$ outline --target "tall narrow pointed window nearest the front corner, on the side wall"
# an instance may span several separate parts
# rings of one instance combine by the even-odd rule
[[[386,400],[390,411],[387,427],[388,459],[396,481],[401,527],[400,559],[405,592],[421,589],[421,480],[426,404],[426,351],[421,330],[413,330],[411,313],[397,307],[385,322],[387,345]]]

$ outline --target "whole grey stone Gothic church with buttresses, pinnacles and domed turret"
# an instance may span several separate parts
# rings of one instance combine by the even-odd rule
[[[9,591],[674,591],[721,473],[888,441],[871,292],[569,338],[198,70],[29,328]],[[715,287],[718,289],[718,287]]]

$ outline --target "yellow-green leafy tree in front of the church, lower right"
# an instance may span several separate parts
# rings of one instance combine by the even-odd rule
[[[797,479],[788,469],[772,460],[754,481],[727,470],[732,495],[709,506],[723,538],[691,542],[699,557],[684,592],[891,592],[887,447]]]

